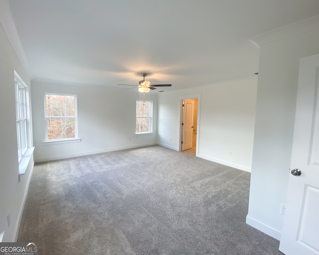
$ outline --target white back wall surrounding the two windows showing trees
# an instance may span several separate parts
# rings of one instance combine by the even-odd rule
[[[77,95],[80,143],[43,143],[45,93]],[[151,135],[135,135],[138,99],[143,99],[142,93],[125,89],[119,91],[103,87],[32,81],[34,160],[47,161],[156,144],[157,94],[145,94],[145,100],[153,100],[154,134]]]

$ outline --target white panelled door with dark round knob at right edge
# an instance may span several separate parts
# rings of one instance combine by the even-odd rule
[[[279,250],[319,255],[319,54],[300,60],[286,213]]]

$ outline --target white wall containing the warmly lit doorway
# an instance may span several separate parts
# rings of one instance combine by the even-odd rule
[[[160,94],[158,144],[179,149],[180,99],[200,93],[198,157],[250,171],[256,91],[257,77],[250,77]]]

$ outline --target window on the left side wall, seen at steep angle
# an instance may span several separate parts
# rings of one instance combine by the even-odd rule
[[[27,107],[26,107],[26,88],[24,82],[20,81],[15,74],[15,119],[16,133],[18,141],[18,157],[22,158],[27,150]]]

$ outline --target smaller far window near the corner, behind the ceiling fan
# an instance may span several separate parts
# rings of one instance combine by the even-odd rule
[[[136,134],[152,133],[152,101],[136,101]]]

